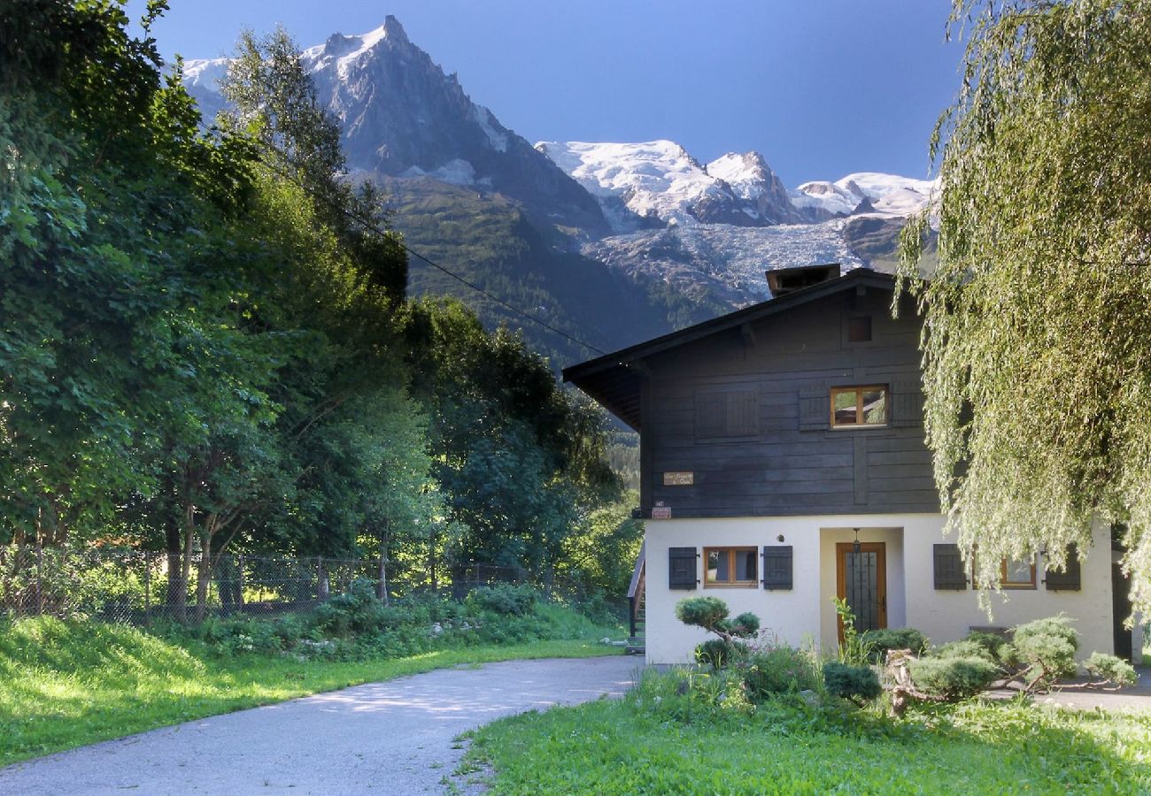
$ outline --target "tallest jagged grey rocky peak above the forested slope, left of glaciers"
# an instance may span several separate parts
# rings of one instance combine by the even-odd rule
[[[472,102],[388,16],[357,36],[303,51],[320,101],[343,128],[348,163],[365,176],[432,177],[496,191],[557,223],[601,231],[599,204],[548,158]],[[222,106],[227,59],[186,61],[184,83],[205,110]]]

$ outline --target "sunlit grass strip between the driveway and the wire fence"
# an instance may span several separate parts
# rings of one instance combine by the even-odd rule
[[[300,663],[221,657],[207,644],[96,622],[0,626],[0,765],[181,721],[448,666],[618,653],[594,641]]]

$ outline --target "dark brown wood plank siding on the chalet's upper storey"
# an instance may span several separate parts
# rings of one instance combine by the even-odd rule
[[[750,335],[731,329],[646,360],[645,510],[938,511],[917,395],[918,321],[892,319],[890,306],[890,291],[860,289],[763,319]],[[859,316],[871,317],[869,342],[848,339]],[[855,384],[887,386],[885,427],[829,427],[831,388]],[[665,472],[692,473],[692,483],[664,485]]]

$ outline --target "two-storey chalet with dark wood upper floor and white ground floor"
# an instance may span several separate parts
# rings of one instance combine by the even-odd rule
[[[1066,573],[1043,551],[1004,561],[993,619],[980,609],[943,535],[921,322],[909,301],[892,317],[893,277],[768,276],[771,300],[564,370],[640,435],[648,663],[692,659],[706,635],[673,610],[693,595],[752,611],[794,645],[834,648],[839,596],[861,628],[909,626],[936,643],[1062,611],[1084,653],[1130,655],[1102,525]]]

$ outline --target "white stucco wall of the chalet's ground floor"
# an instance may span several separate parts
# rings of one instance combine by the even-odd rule
[[[685,597],[716,596],[732,615],[752,611],[764,628],[791,645],[815,643],[831,651],[837,643],[836,595],[837,542],[852,542],[860,528],[861,542],[886,545],[887,626],[915,627],[932,642],[965,636],[971,626],[1011,627],[1060,611],[1075,618],[1081,657],[1099,650],[1113,651],[1111,609],[1111,541],[1105,527],[1095,529],[1095,543],[1082,565],[1082,590],[1047,591],[1043,583],[1042,556],[1037,588],[991,595],[991,618],[978,606],[977,595],[936,591],[931,545],[946,542],[939,514],[824,515],[737,518],[707,520],[648,520],[647,607],[645,644],[653,664],[691,663],[695,645],[708,637],[699,628],[674,617],[674,605]],[[780,541],[778,537],[783,536]],[[756,588],[703,588],[703,564],[698,560],[700,584],[695,590],[668,588],[668,549],[694,546],[755,546],[790,544],[793,549],[793,585],[790,591]]]

